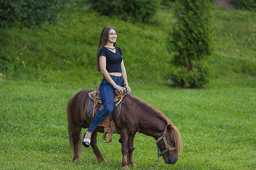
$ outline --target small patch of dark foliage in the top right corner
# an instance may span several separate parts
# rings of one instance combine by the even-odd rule
[[[231,0],[230,2],[233,3],[237,9],[256,11],[255,0]]]

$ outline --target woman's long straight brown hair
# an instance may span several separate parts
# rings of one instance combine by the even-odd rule
[[[101,71],[101,70],[100,70],[100,64],[99,64],[99,61],[98,61],[98,59],[100,58],[100,53],[99,53],[99,51],[100,51],[100,49],[101,49],[104,45],[107,44],[108,39],[109,39],[109,31],[110,31],[110,29],[114,29],[114,31],[117,32],[117,31],[115,30],[115,28],[112,27],[112,26],[106,26],[106,27],[104,27],[104,28],[102,29],[102,31],[101,31],[100,44],[98,45],[97,59],[96,59],[96,69],[97,69],[97,71]],[[115,46],[115,42],[114,42],[114,46]]]

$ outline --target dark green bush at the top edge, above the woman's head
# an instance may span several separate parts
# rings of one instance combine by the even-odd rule
[[[92,8],[101,15],[117,16],[133,22],[151,22],[160,0],[93,0]]]

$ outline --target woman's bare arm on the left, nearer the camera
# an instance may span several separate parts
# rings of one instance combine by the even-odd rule
[[[100,56],[99,58],[99,65],[100,65],[100,70],[101,74],[104,76],[104,78],[112,84],[112,86],[119,91],[120,94],[122,94],[123,91],[125,91],[125,88],[118,86],[115,84],[114,80],[110,77],[109,72],[106,70],[106,57],[105,56]]]

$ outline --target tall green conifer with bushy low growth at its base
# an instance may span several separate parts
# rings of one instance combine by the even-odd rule
[[[208,69],[200,68],[200,65],[195,67],[194,63],[209,55],[212,50],[210,48],[212,42],[210,5],[209,1],[203,0],[176,1],[177,25],[171,32],[170,46],[176,52],[172,62],[180,68],[179,71],[171,73],[174,84],[185,87],[188,84],[190,84],[188,87],[194,87],[197,84],[196,87],[202,87],[207,83]],[[200,70],[204,70],[204,73],[200,73]],[[177,78],[179,76],[177,74],[182,74],[180,79]]]

